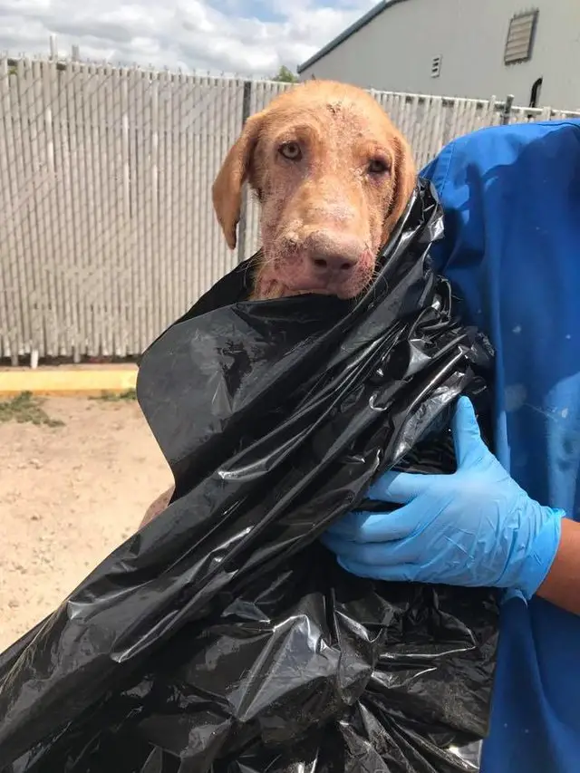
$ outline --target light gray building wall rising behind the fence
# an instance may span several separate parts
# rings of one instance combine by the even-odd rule
[[[513,14],[539,10],[532,58],[505,65]],[[440,76],[431,63],[441,56]],[[578,0],[404,0],[394,3],[300,73],[365,88],[485,99],[514,94],[527,105],[543,78],[539,105],[580,108]]]

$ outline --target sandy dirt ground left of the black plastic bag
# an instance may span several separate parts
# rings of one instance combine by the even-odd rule
[[[0,652],[139,526],[172,479],[136,401],[49,398],[42,409],[48,423],[0,422]]]

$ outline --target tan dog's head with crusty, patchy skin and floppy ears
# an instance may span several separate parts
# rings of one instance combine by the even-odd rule
[[[213,200],[233,249],[243,183],[256,191],[263,258],[254,297],[353,298],[372,281],[415,179],[407,141],[370,94],[310,81],[247,121]]]

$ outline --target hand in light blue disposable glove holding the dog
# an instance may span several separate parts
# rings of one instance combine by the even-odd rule
[[[481,440],[459,399],[452,475],[388,472],[368,498],[399,507],[351,513],[322,541],[353,575],[377,580],[509,588],[536,593],[556,557],[562,510],[529,498]]]

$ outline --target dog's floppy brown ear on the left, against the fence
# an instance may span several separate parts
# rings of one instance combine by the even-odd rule
[[[230,249],[234,249],[237,243],[236,231],[242,207],[242,188],[249,174],[263,118],[263,113],[257,113],[247,119],[239,139],[227,153],[211,189],[218,222]]]

